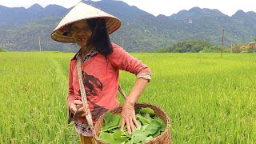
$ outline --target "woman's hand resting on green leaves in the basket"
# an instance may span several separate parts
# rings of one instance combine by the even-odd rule
[[[134,104],[130,103],[128,98],[122,106],[122,124],[120,130],[123,131],[125,125],[127,126],[128,134],[131,134],[135,130],[135,126],[139,126],[135,117]]]

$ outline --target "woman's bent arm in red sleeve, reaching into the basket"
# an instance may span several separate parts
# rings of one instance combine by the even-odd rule
[[[142,94],[146,84],[150,81],[151,71],[138,58],[128,54],[122,47],[112,43],[113,53],[110,54],[110,62],[117,70],[126,70],[137,76],[134,86],[122,106],[122,124],[120,130],[127,126],[128,134],[138,126],[135,118],[134,104]]]

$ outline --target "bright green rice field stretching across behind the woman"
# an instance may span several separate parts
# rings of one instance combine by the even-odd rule
[[[66,113],[73,55],[0,53],[0,143],[79,142]],[[256,143],[256,54],[132,55],[153,73],[138,102],[166,111],[173,143]],[[126,94],[134,79],[121,72]]]

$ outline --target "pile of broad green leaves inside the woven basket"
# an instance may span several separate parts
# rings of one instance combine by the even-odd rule
[[[107,112],[102,124],[98,140],[108,143],[134,144],[150,141],[166,130],[166,123],[154,114],[150,108],[135,107],[136,119],[139,126],[132,134],[125,129],[120,130],[121,114]]]

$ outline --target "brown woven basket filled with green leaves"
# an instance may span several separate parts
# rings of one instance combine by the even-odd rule
[[[151,104],[147,104],[147,103],[136,103],[135,107],[149,107],[152,110],[154,110],[154,114],[156,114],[159,118],[162,118],[162,120],[164,122],[166,122],[166,130],[164,132],[162,132],[162,134],[158,135],[158,137],[151,139],[148,142],[143,142],[143,144],[170,144],[170,122],[169,122],[169,118],[166,114],[166,112],[164,112],[163,110],[161,110],[158,106],[154,106]],[[118,106],[116,108],[114,108],[113,110],[110,111],[112,114],[120,114],[122,112],[122,106]],[[98,118],[98,121],[95,123],[94,125],[94,139],[96,141],[97,144],[106,144],[106,142],[102,142],[98,140],[98,136],[99,133],[101,131],[102,128],[102,123],[104,122],[104,116],[105,114],[102,114],[102,116],[100,118]]]

